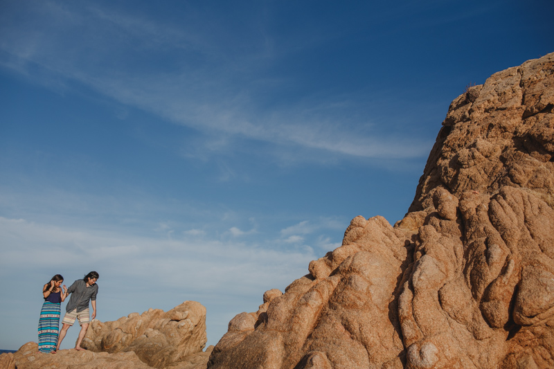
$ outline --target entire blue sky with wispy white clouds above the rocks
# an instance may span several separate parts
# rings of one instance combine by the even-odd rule
[[[402,219],[450,102],[553,52],[553,11],[0,0],[0,349],[92,270],[100,321],[195,300],[215,345],[352,218]]]

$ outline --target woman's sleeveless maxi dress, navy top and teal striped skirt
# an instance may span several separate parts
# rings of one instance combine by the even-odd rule
[[[60,332],[60,310],[62,291],[50,294],[42,304],[39,319],[39,351],[51,352],[57,345],[57,335]]]

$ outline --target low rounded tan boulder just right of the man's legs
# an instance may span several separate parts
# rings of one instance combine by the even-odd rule
[[[202,352],[206,345],[206,308],[195,301],[163,312],[132,313],[117,321],[93,321],[82,347],[94,352],[134,351],[154,368],[166,368]]]

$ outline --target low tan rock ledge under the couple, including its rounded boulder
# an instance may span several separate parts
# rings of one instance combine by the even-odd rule
[[[213,350],[206,345],[206,308],[195,301],[163,312],[149,309],[114,322],[93,321],[86,351],[38,351],[35,342],[0,355],[0,369],[206,369]]]

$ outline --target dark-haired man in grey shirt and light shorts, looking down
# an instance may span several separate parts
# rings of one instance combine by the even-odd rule
[[[75,319],[79,320],[79,325],[81,326],[79,338],[77,343],[75,343],[75,350],[84,350],[81,347],[81,342],[84,339],[84,335],[87,334],[90,324],[89,301],[91,301],[92,305],[92,318],[96,318],[96,294],[98,294],[96,280],[98,280],[98,277],[96,271],[91,271],[84,278],[75,280],[73,285],[67,289],[67,294],[71,294],[71,298],[69,298],[69,303],[65,308],[66,313],[62,320],[63,326],[60,331],[60,339],[57,340],[56,350],[60,349],[65,334],[69,330],[69,327],[75,323]]]

